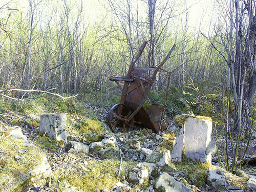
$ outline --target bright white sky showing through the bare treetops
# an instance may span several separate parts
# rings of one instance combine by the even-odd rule
[[[166,0],[158,0],[157,3],[162,3],[163,1],[166,1]],[[14,5],[17,5],[17,7],[15,8],[19,10],[29,10],[28,9],[29,0],[19,0],[19,1],[18,0],[2,0],[0,1],[0,7],[2,7],[8,2],[11,2],[10,8],[12,8],[12,6]],[[81,1],[74,0],[70,2],[72,2],[73,5],[75,5],[75,4],[80,4]],[[133,0],[131,0],[131,2],[133,2]],[[136,1],[134,0],[134,2]],[[169,0],[169,2],[171,1]],[[61,5],[61,1],[59,0],[53,0],[49,2],[42,1],[41,3],[45,5],[51,4],[53,6]],[[88,21],[88,23],[93,24],[95,22],[101,22],[102,19],[111,19],[111,15],[109,11],[106,10],[106,8],[108,9],[107,0],[101,0],[101,1],[82,0],[82,4],[83,4],[83,12],[87,18],[86,20]],[[143,6],[143,4],[145,4],[143,1],[138,0],[139,12],[141,14],[144,14],[148,11],[147,7]],[[176,18],[177,22],[175,23],[178,26],[182,26],[184,25],[184,20],[185,20],[184,18],[186,13],[185,0],[179,1],[179,4],[180,4],[179,5],[180,8],[178,9],[178,13],[176,13],[179,15],[179,17]],[[46,9],[45,6],[42,6],[41,8]],[[199,27],[200,27],[200,30],[208,31],[209,26],[212,23],[215,23],[218,18],[218,15],[216,15],[216,11],[214,11],[216,9],[216,2],[212,0],[187,0],[187,8],[188,8],[189,31],[195,31],[195,29],[197,31]],[[47,10],[42,10],[42,11],[47,12]],[[179,27],[177,26],[175,28],[179,29]]]

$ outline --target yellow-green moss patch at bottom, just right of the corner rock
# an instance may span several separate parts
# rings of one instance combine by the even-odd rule
[[[130,169],[134,166],[134,162],[123,161],[121,175],[118,177],[119,164],[119,160],[89,160],[86,169],[83,170],[77,165],[57,167],[53,173],[52,183],[58,186],[58,191],[62,191],[58,181],[64,179],[78,190],[94,192],[96,188],[111,189],[115,183],[121,182],[121,177],[128,177]]]

